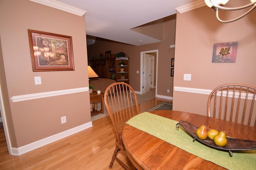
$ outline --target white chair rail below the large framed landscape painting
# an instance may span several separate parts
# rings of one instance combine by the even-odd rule
[[[72,88],[72,89],[67,89],[67,90],[57,90],[57,91],[51,91],[51,92],[24,94],[24,95],[20,95],[20,96],[12,96],[11,100],[12,100],[12,102],[22,102],[22,101],[26,101],[26,100],[34,100],[34,99],[40,99],[40,98],[48,98],[48,97],[52,97],[52,96],[60,96],[60,95],[65,95],[65,94],[87,92],[88,90],[89,90],[88,87],[82,87],[82,88]]]

